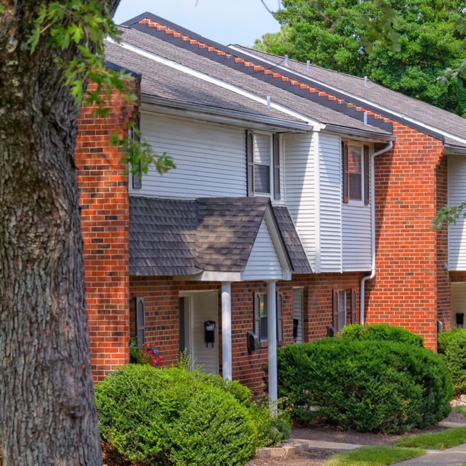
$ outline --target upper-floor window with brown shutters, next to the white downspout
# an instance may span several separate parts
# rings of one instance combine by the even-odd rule
[[[343,141],[343,202],[368,205],[369,191],[369,146]]]

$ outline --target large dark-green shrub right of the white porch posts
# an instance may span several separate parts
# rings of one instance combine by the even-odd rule
[[[452,382],[432,351],[387,341],[326,338],[278,352],[279,395],[302,422],[404,432],[450,412]]]

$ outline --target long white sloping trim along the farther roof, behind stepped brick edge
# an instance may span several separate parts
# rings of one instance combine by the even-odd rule
[[[403,119],[406,122],[417,124],[417,125],[421,126],[422,128],[425,128],[426,130],[435,131],[435,132],[437,132],[439,134],[442,134],[443,136],[450,137],[450,138],[454,139],[455,141],[459,141],[461,143],[466,144],[466,139],[465,138],[456,136],[455,134],[452,134],[452,133],[450,133],[448,131],[441,130],[440,128],[437,128],[437,127],[432,126],[430,124],[424,123],[424,122],[422,122],[420,120],[417,120],[416,118],[407,117],[403,113],[399,113],[399,112],[397,112],[395,110],[391,110],[388,107],[384,107],[383,105],[380,105],[380,104],[375,103],[375,102],[373,102],[373,101],[371,101],[369,99],[365,99],[364,97],[357,96],[356,94],[352,94],[352,93],[347,92],[347,91],[345,91],[343,89],[332,86],[332,85],[330,85],[330,84],[328,84],[326,82],[320,81],[318,79],[315,79],[315,78],[307,76],[307,75],[303,75],[302,73],[300,73],[299,71],[296,71],[295,69],[290,69],[290,68],[287,68],[285,66],[281,66],[278,63],[267,60],[266,58],[255,55],[254,53],[247,52],[246,50],[240,49],[240,48],[236,47],[235,45],[229,45],[228,48],[231,48],[232,50],[235,50],[236,52],[240,52],[240,53],[242,53],[244,55],[248,55],[248,56],[250,56],[252,58],[256,58],[257,60],[265,62],[265,63],[269,64],[270,66],[273,66],[276,69],[281,69],[281,70],[283,70],[285,72],[284,74],[286,74],[287,72],[289,73],[291,71],[293,74],[295,74],[297,76],[300,76],[303,79],[314,83],[315,87],[317,87],[317,88],[319,87],[319,85],[325,86],[327,89],[334,90],[334,91],[338,92],[339,94],[343,94],[344,96],[347,96],[349,101],[351,101],[351,99],[354,99],[354,100],[357,100],[357,101],[359,101],[361,103],[366,103],[367,105],[370,105],[371,107],[373,107],[375,109],[382,110],[382,111],[384,111],[386,113],[394,115],[394,116],[396,116],[398,118]],[[409,125],[407,125],[407,126],[409,126]]]

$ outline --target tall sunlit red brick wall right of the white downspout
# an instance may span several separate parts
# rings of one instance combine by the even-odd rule
[[[377,275],[366,282],[366,322],[403,326],[435,349],[446,250],[444,233],[429,227],[446,196],[443,144],[399,123],[393,130],[393,150],[375,162]]]

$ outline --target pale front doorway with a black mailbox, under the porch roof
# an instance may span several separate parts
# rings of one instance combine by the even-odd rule
[[[183,293],[184,343],[193,365],[219,373],[219,297],[217,292]],[[206,343],[205,322],[215,322],[214,342]],[[181,335],[180,335],[181,337]]]

